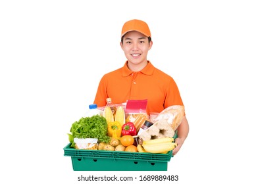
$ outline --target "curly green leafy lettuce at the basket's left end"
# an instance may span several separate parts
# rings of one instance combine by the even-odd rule
[[[107,121],[103,116],[95,115],[81,118],[74,122],[68,133],[68,139],[74,147],[74,138],[97,138],[99,142],[109,143],[107,135]]]

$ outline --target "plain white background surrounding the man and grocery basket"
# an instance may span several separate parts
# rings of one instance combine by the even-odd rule
[[[116,173],[255,183],[255,9],[225,0],[1,1],[0,180],[81,183],[81,174]],[[120,32],[133,18],[151,28],[148,60],[178,84],[190,134],[168,172],[74,172],[66,133],[103,74],[123,66]]]

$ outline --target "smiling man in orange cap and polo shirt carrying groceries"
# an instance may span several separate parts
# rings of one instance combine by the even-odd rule
[[[94,100],[97,106],[105,106],[109,97],[114,104],[147,99],[147,114],[161,112],[172,105],[184,105],[173,78],[147,60],[147,53],[152,45],[147,23],[136,19],[124,23],[120,46],[127,60],[122,68],[101,78]],[[178,146],[173,154],[180,150],[188,131],[188,121],[184,116],[178,127]]]

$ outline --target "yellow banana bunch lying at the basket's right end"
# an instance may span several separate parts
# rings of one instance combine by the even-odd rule
[[[173,150],[176,146],[177,144],[174,143],[173,137],[163,137],[143,141],[142,145],[137,146],[137,149],[139,152],[166,153]]]

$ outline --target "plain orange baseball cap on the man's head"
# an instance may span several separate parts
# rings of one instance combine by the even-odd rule
[[[151,37],[149,26],[147,26],[147,23],[143,22],[142,20],[134,19],[134,20],[129,20],[128,22],[125,22],[124,26],[122,26],[121,37],[131,31],[140,32],[141,34],[147,37],[149,36]]]

